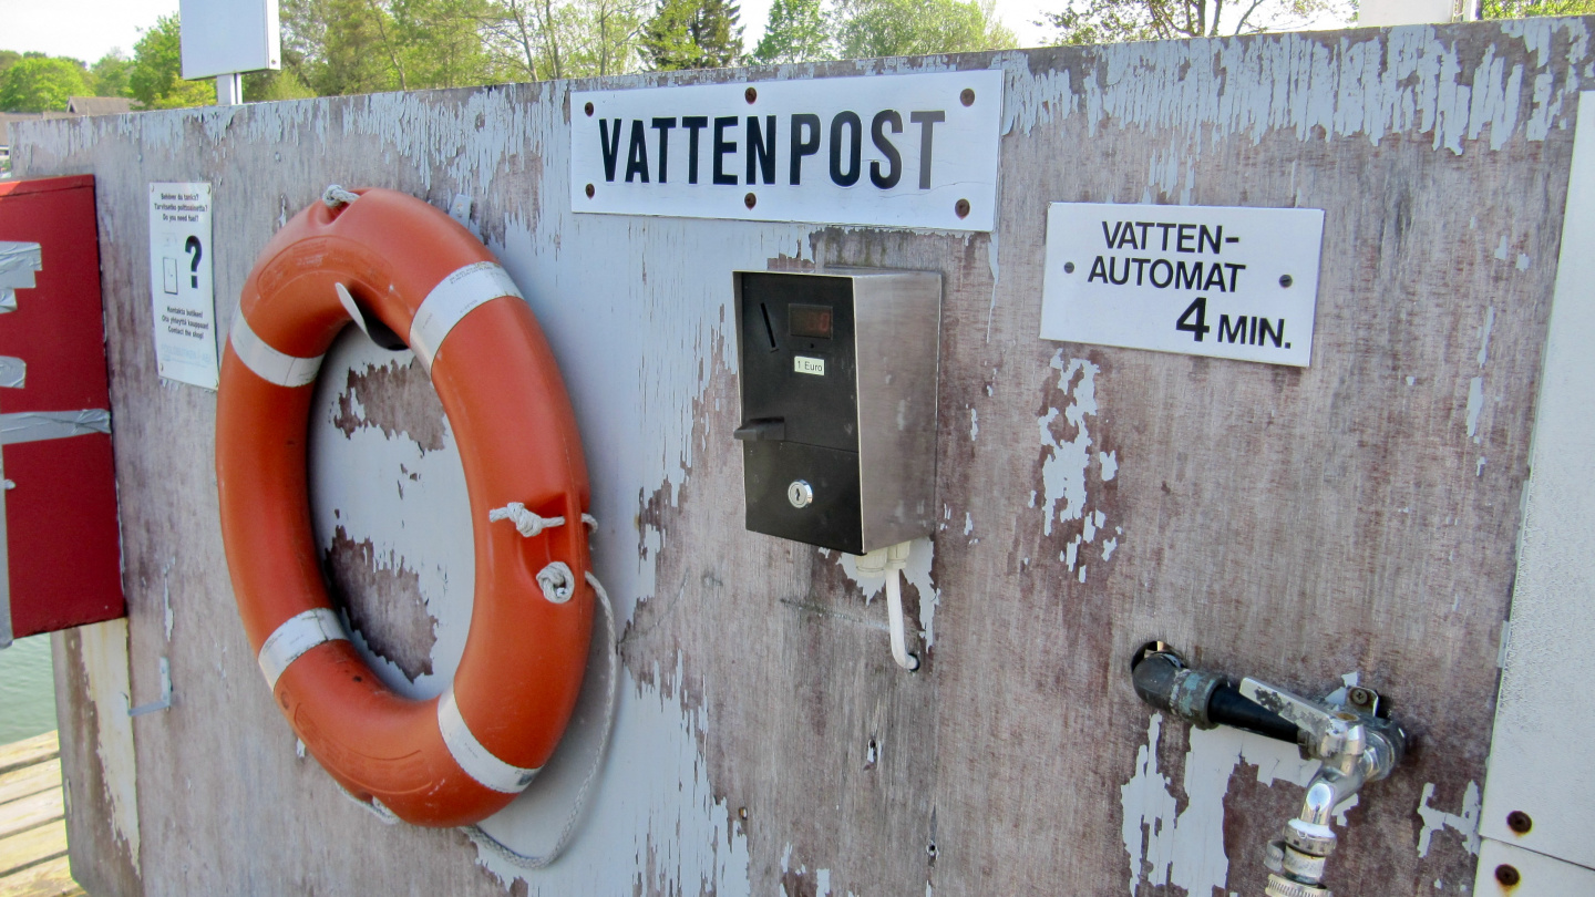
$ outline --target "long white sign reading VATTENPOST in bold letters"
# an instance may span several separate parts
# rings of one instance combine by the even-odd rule
[[[577,212],[992,230],[998,70],[571,94]]]

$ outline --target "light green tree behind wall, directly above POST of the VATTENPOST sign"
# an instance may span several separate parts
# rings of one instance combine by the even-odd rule
[[[924,56],[1016,46],[1013,32],[975,0],[844,0],[842,56]]]

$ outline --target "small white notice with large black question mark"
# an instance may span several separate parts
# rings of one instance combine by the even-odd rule
[[[150,184],[150,298],[161,377],[215,389],[211,185]]]

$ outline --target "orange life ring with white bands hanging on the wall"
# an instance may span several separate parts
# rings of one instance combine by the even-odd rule
[[[531,782],[582,685],[592,519],[576,417],[531,310],[480,241],[404,193],[327,193],[260,254],[222,361],[226,563],[273,697],[332,777],[407,822],[467,825]],[[333,337],[372,316],[431,372],[471,498],[471,632],[431,701],[389,691],[351,646],[311,533],[316,372]]]

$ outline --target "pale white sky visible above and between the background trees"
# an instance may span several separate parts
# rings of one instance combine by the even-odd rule
[[[1037,27],[1043,10],[1067,0],[997,0],[997,18],[1019,37],[1019,46],[1040,46],[1051,29]],[[0,49],[37,49],[93,64],[112,49],[132,56],[139,29],[177,11],[177,0],[0,0]],[[743,43],[759,41],[770,16],[770,0],[742,0]],[[1324,22],[1322,27],[1337,27]]]

